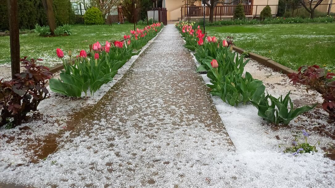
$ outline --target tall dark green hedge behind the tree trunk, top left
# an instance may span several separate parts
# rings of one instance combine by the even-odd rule
[[[20,29],[34,29],[35,24],[47,25],[47,15],[42,0],[18,0],[18,22]],[[54,0],[53,8],[56,24],[74,22],[74,12],[70,0]],[[7,0],[0,1],[0,30],[9,29]]]

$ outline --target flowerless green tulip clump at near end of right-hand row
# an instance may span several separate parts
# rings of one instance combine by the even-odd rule
[[[262,117],[268,122],[276,124],[288,125],[291,120],[295,117],[314,109],[317,105],[303,106],[294,109],[291,98],[289,97],[290,91],[287,93],[284,99],[280,96],[278,99],[271,95],[262,93],[262,95],[254,95],[250,101],[257,109],[258,116]],[[271,104],[269,104],[269,101]],[[288,104],[290,107],[288,108]]]

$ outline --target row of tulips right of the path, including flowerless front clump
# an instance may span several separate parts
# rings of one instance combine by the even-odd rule
[[[261,80],[254,79],[248,72],[242,77],[244,66],[249,60],[244,61],[244,55],[239,57],[237,52],[232,52],[231,40],[228,44],[226,39],[218,41],[215,36],[207,36],[206,41],[200,26],[196,32],[192,25],[188,26],[184,22],[177,23],[176,27],[186,40],[185,47],[195,51],[194,55],[201,64],[197,71],[208,71],[207,76],[211,79],[211,84],[207,86],[211,88],[210,93],[220,97],[222,101],[231,106],[251,102],[258,109],[260,117],[270,123],[284,125],[316,107],[317,104],[314,104],[294,109],[289,97],[290,92],[284,99],[282,96],[274,98],[265,94],[265,86]],[[271,99],[271,104],[268,99]]]

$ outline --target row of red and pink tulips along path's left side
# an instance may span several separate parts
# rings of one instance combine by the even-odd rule
[[[92,96],[103,84],[112,81],[118,69],[137,54],[134,51],[142,48],[161,28],[160,23],[154,23],[144,29],[131,30],[132,36],[124,35],[124,41],[106,41],[105,46],[96,42],[90,52],[92,57],[81,50],[74,65],[63,59],[64,53],[58,48],[57,56],[63,59],[65,70],[61,70],[60,79],[50,80],[50,89],[69,97],[87,96],[89,89]]]

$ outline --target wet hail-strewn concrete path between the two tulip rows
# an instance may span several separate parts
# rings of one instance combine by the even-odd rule
[[[96,105],[76,114],[74,130],[57,151],[32,164],[36,175],[22,181],[59,187],[206,185],[203,172],[224,163],[215,156],[235,147],[183,43],[174,25],[167,25]]]

